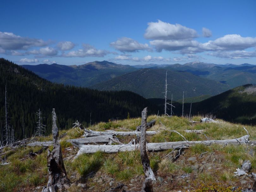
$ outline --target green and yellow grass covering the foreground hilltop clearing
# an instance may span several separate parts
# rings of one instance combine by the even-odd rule
[[[200,120],[200,116],[193,117],[195,121]],[[228,122],[222,123],[198,123],[192,125],[187,118],[184,117],[157,117],[149,116],[148,121],[156,120],[156,124],[149,128],[149,130],[161,130],[161,133],[147,136],[148,142],[168,142],[168,141],[183,141],[183,138],[175,132],[170,132],[166,129],[176,130],[180,132],[188,141],[205,141],[207,140],[205,135],[210,139],[233,139],[246,135],[246,131],[243,129],[241,124],[232,124]],[[105,130],[116,130],[116,131],[129,131],[135,130],[136,126],[140,125],[141,118],[134,119],[125,119],[125,120],[115,120],[107,123],[98,123],[90,127],[90,129],[95,131],[105,131]],[[161,125],[163,123],[165,127]],[[122,128],[122,129],[120,129]],[[203,129],[204,134],[195,134],[195,133],[186,133],[184,130],[196,130]],[[251,140],[256,140],[256,128],[253,126],[246,126],[250,134]],[[67,151],[64,150],[67,147],[71,147],[69,142],[66,142],[67,139],[79,138],[83,135],[83,130],[69,129],[63,130],[61,134],[66,134],[61,138],[60,144],[63,150],[64,158],[76,154],[76,149]],[[120,137],[123,143],[130,141],[131,137]],[[37,137],[37,141],[50,141],[52,136],[48,137]],[[128,141],[129,140],[129,141]],[[39,185],[45,185],[47,180],[47,162],[46,156],[47,151],[44,151],[42,154],[38,155],[34,159],[29,159],[28,153],[33,151],[40,150],[41,147],[18,147],[15,151],[12,151],[11,148],[5,147],[3,152],[5,153],[5,158],[7,162],[10,162],[9,165],[0,165],[0,191],[21,191],[21,188],[30,188],[33,189]],[[49,147],[52,150],[52,147]],[[251,152],[250,152],[251,151]],[[194,171],[192,169],[191,162],[185,162],[179,164],[178,162],[172,162],[169,159],[166,159],[165,156],[170,152],[170,150],[148,153],[150,159],[150,166],[154,171],[156,176],[167,177],[172,175],[181,175],[184,173],[196,174],[196,181],[194,186],[198,187],[198,192],[207,191],[208,189],[216,189],[215,180],[221,181],[223,188],[222,191],[228,190],[230,182],[237,182],[236,177],[234,177],[233,172],[237,167],[241,167],[241,163],[244,160],[250,160],[252,163],[252,172],[256,172],[256,147],[247,147],[247,146],[221,146],[221,145],[211,145],[205,146],[203,144],[197,144],[189,149],[185,150],[185,156],[191,157],[196,156],[198,161],[200,161],[199,155],[204,152],[205,156],[216,153],[223,157],[221,159],[222,169],[219,172],[212,173]],[[250,153],[249,153],[250,152]],[[4,158],[4,157],[2,157]],[[131,178],[136,178],[142,176],[143,167],[141,164],[140,152],[119,152],[113,154],[106,153],[94,153],[94,154],[83,154],[80,155],[74,162],[71,162],[72,159],[64,160],[64,165],[68,176],[72,178],[72,181],[82,177],[86,177],[92,171],[100,171],[101,175],[108,175],[109,177],[115,178],[116,182],[122,181],[128,184]],[[198,163],[198,162],[197,162]],[[216,162],[216,164],[219,161]],[[201,166],[201,165],[200,165]],[[72,176],[72,177],[71,177]],[[76,176],[76,177],[74,177]],[[198,186],[198,182],[203,181],[205,184]],[[99,185],[98,183],[89,180],[92,186]],[[185,183],[180,183],[177,186],[185,186]],[[74,189],[73,189],[74,188]],[[81,189],[73,187],[70,191],[80,191]]]

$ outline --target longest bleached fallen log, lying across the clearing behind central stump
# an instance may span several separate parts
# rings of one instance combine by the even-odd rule
[[[210,140],[210,141],[175,141],[175,142],[164,142],[164,143],[148,143],[147,144],[147,151],[149,152],[156,152],[162,151],[167,149],[177,149],[180,147],[188,148],[195,144],[202,143],[204,145],[211,145],[211,144],[251,144],[251,141],[248,141],[249,136],[245,135],[237,139],[228,139],[228,140]],[[76,154],[75,158],[78,157],[80,154],[83,153],[95,153],[97,151],[102,151],[105,153],[117,153],[121,151],[134,151],[140,148],[139,144],[131,145],[131,144],[123,144],[123,145],[84,145],[79,142],[72,142],[75,147],[79,148],[78,153]]]

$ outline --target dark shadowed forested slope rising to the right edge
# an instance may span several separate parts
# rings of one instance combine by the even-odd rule
[[[163,108],[164,99],[148,99],[150,103]],[[182,115],[182,100],[173,102],[174,115]],[[168,101],[170,102],[170,101]],[[191,103],[184,104],[184,114],[189,116]],[[256,86],[247,84],[230,89],[224,93],[210,97],[200,102],[192,103],[191,115],[209,115],[225,121],[256,124]],[[167,111],[170,115],[170,110]]]

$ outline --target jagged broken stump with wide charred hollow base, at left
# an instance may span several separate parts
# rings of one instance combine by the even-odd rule
[[[42,192],[56,192],[58,189],[69,187],[70,180],[67,177],[67,172],[64,167],[61,147],[58,143],[58,127],[56,125],[55,109],[52,109],[52,141],[53,150],[50,152],[48,149],[47,167],[49,173],[49,180]]]

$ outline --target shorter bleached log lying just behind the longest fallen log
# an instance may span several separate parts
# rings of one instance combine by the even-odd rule
[[[99,136],[99,135],[120,135],[120,136],[130,136],[130,135],[141,135],[141,131],[92,131],[92,130],[84,130],[85,137]],[[159,133],[159,131],[147,131],[147,135],[155,135]]]

